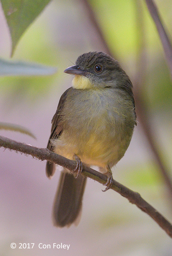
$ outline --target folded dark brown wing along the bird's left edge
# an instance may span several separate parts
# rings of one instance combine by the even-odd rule
[[[62,109],[64,107],[64,102],[66,100],[67,97],[67,93],[71,88],[67,89],[62,96],[60,97],[59,103],[58,103],[58,107],[56,110],[55,115],[53,116],[53,119],[51,121],[52,126],[51,126],[51,135],[49,137],[49,142],[47,145],[47,148],[51,151],[53,151],[53,145],[52,145],[52,140],[57,139],[60,134],[62,134],[63,132],[63,126],[60,124],[61,121],[61,112]],[[54,172],[56,170],[56,166],[54,163],[50,163],[49,161],[47,161],[47,165],[46,165],[46,175],[51,178],[51,176],[53,176]]]

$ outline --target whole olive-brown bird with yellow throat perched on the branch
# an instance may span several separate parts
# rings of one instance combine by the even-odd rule
[[[82,163],[98,166],[113,183],[111,168],[124,156],[136,123],[132,83],[118,61],[104,52],[80,55],[64,73],[73,75],[72,86],[61,96],[52,119],[47,148],[76,161],[76,169],[63,168],[53,206],[56,227],[77,225],[81,216],[86,177]],[[47,161],[51,178],[56,165]]]

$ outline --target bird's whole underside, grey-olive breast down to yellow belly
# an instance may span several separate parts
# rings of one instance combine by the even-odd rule
[[[74,90],[64,104],[63,132],[56,142],[56,148],[61,151],[56,153],[69,158],[75,153],[81,160],[86,159],[86,163],[91,163],[87,159],[94,159],[92,164],[99,166],[99,161],[116,161],[122,141],[132,136],[135,123],[132,112],[132,103],[123,105],[121,96],[114,91]],[[133,119],[130,127],[129,119]]]

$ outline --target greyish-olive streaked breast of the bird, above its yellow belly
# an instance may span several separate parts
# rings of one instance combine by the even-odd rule
[[[69,94],[62,113],[64,129],[90,136],[106,132],[112,136],[128,121],[134,124],[133,105],[115,90],[74,90]],[[116,131],[115,131],[116,130]]]

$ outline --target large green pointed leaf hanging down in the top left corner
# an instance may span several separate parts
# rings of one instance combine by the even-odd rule
[[[12,53],[20,36],[49,2],[50,0],[1,0],[10,28]]]

